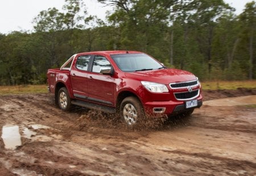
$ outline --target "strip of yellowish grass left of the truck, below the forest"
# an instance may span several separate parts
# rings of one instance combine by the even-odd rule
[[[22,93],[47,93],[47,85],[13,85],[0,86],[0,95],[22,94]]]

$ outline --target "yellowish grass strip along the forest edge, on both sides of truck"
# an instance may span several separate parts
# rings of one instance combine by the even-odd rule
[[[216,89],[256,89],[256,80],[246,81],[204,81],[201,82],[204,90]],[[0,95],[22,94],[22,93],[47,93],[47,85],[14,85],[0,86]]]

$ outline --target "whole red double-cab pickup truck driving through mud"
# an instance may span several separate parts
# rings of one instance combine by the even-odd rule
[[[203,104],[195,75],[139,51],[75,54],[61,68],[49,69],[47,79],[60,109],[78,105],[117,113],[127,126],[147,115],[190,115]]]

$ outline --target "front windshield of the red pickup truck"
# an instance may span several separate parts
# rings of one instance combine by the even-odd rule
[[[111,55],[114,62],[125,72],[157,70],[163,68],[155,59],[149,57],[147,54],[113,54]]]

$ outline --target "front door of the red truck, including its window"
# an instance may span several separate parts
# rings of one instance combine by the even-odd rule
[[[106,57],[95,55],[92,70],[88,73],[88,100],[114,105],[115,79],[100,73],[101,70],[110,68],[112,66]]]

